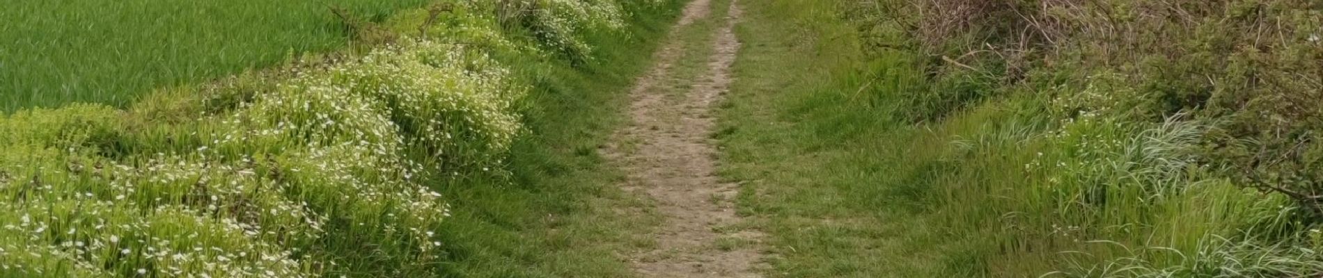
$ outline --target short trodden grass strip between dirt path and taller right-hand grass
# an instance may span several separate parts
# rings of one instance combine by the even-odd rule
[[[937,277],[939,231],[892,202],[902,126],[857,94],[871,65],[837,7],[742,4],[721,174],[745,182],[740,213],[771,235],[773,277]]]

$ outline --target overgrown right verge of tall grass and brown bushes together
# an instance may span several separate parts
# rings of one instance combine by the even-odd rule
[[[975,274],[1323,273],[1316,3],[845,7],[868,51],[922,80],[876,105],[958,142],[931,154],[957,170],[927,190],[982,242],[957,256]]]

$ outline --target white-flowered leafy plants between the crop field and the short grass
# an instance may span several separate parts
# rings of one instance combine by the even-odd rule
[[[579,36],[628,12],[537,1],[553,34],[529,41],[488,3],[450,5],[363,55],[0,117],[0,277],[438,273],[429,183],[501,171],[525,132],[529,86],[490,55],[586,55]]]

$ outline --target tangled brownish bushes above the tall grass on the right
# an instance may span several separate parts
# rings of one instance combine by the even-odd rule
[[[1283,192],[1316,207],[1311,175],[1323,132],[1323,9],[1299,0],[1226,1],[872,1],[869,28],[934,57],[930,88],[906,101],[913,119],[939,119],[970,101],[1023,91],[1160,123],[1174,115],[1216,123],[1203,153],[1246,186]],[[964,14],[947,17],[941,14]],[[892,21],[880,18],[893,17]],[[963,53],[963,54],[962,54]],[[959,58],[950,58],[957,57]],[[972,62],[971,62],[972,61]],[[968,65],[966,65],[968,63]],[[970,75],[970,71],[990,75]],[[1036,72],[1080,72],[1043,88]],[[1069,91],[1062,91],[1066,88]],[[1082,107],[1080,101],[1090,101]],[[1290,162],[1278,159],[1290,158]],[[1303,161],[1301,161],[1303,159]],[[1307,200],[1306,200],[1307,199]],[[1318,208],[1311,208],[1318,209]]]

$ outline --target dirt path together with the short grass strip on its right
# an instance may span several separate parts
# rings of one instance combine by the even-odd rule
[[[691,3],[632,91],[634,124],[606,149],[622,187],[652,202],[643,215],[663,217],[638,236],[638,274],[947,274],[923,217],[885,190],[904,161],[888,142],[904,132],[852,101],[867,59],[836,12]]]

